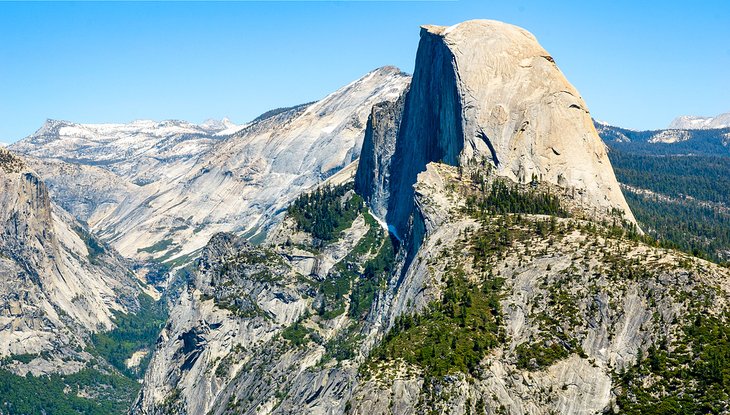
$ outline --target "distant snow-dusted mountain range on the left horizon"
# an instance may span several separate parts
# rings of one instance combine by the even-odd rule
[[[126,199],[144,197],[146,185],[191,169],[226,131],[228,120],[77,124],[48,120],[10,148],[28,157],[50,180],[55,200],[96,229]]]

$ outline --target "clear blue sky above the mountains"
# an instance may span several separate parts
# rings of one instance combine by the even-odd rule
[[[46,118],[230,117],[411,72],[421,24],[534,33],[595,118],[635,129],[730,111],[730,1],[0,3],[0,142]]]

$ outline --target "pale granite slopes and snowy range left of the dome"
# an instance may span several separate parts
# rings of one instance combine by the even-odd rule
[[[318,102],[267,113],[231,136],[218,135],[226,130],[215,123],[51,123],[12,149],[85,165],[66,168],[73,173],[51,188],[123,255],[184,261],[216,232],[260,239],[293,197],[358,157],[370,108],[396,99],[409,79],[381,68]],[[90,188],[78,186],[92,177],[89,166],[120,177],[113,192],[97,186],[108,181],[103,174]]]

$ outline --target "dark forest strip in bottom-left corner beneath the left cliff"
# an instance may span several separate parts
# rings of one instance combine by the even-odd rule
[[[0,413],[125,414],[139,388],[134,380],[90,368],[71,375],[25,377],[0,369]]]

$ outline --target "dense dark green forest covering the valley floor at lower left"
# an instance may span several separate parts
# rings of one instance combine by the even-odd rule
[[[96,358],[81,371],[50,376],[19,376],[0,368],[0,414],[124,414],[140,388],[157,336],[167,318],[165,301],[139,296],[136,313],[116,313],[116,328],[92,335],[87,349]],[[147,354],[136,367],[127,367],[133,353]],[[7,357],[25,363],[38,355]],[[42,357],[42,355],[40,356]],[[111,366],[109,364],[111,364]]]

